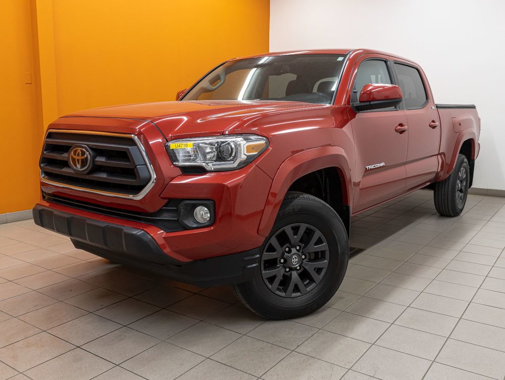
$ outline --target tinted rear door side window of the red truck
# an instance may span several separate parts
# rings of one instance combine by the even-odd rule
[[[419,71],[412,66],[399,63],[394,64],[394,69],[407,110],[423,107],[428,98]]]

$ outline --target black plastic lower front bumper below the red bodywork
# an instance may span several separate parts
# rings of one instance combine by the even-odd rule
[[[147,232],[36,204],[35,224],[70,237],[76,248],[200,287],[245,282],[259,265],[259,248],[188,262],[163,252]]]

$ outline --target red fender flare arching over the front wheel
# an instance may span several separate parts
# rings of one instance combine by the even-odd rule
[[[339,146],[323,146],[293,154],[282,162],[275,173],[272,186],[268,193],[263,215],[258,227],[258,233],[268,236],[281,203],[289,187],[298,178],[325,168],[336,168],[339,171],[342,186],[343,202],[350,205],[351,178],[347,155]]]

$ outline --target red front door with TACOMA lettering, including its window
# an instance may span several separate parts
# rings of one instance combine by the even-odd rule
[[[358,101],[366,84],[396,84],[387,60],[385,56],[370,55],[358,60],[347,94],[356,148],[355,211],[387,201],[405,190],[409,137],[405,111],[395,106],[356,112],[350,106]]]

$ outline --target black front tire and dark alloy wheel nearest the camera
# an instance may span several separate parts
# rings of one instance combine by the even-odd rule
[[[252,279],[233,290],[262,317],[287,319],[310,314],[333,297],[347,269],[349,242],[327,203],[288,192],[260,252]]]

